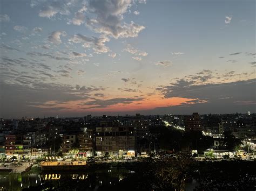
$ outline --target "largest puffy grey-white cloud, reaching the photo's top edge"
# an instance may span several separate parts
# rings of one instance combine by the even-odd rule
[[[106,34],[113,38],[138,37],[145,26],[134,22],[123,22],[124,14],[132,6],[132,0],[102,1],[89,0],[87,11],[95,14],[95,18],[87,18],[86,25],[97,33]]]

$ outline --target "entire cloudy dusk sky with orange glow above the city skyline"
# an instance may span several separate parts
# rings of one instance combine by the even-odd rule
[[[3,0],[0,117],[255,112],[255,1]]]

